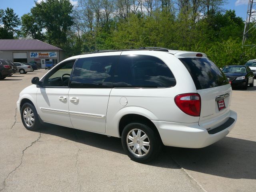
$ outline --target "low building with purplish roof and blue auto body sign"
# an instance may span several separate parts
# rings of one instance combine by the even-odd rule
[[[65,59],[62,49],[36,39],[0,39],[0,58],[13,62],[36,62],[44,68],[46,61],[54,64]]]

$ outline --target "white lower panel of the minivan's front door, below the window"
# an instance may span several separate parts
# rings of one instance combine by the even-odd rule
[[[37,92],[38,114],[44,122],[73,127],[68,113],[70,88],[40,88]]]

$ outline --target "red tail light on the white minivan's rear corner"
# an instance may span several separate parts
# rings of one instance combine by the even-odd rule
[[[174,101],[178,108],[191,116],[200,116],[201,98],[197,93],[186,93],[177,95]]]

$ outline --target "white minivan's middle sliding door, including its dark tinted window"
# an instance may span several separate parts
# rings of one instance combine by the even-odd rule
[[[112,90],[115,56],[80,58],[68,94],[69,114],[74,128],[105,132],[108,99]]]

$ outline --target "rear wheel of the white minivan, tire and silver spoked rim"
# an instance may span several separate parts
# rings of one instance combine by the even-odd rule
[[[138,138],[139,130],[141,131],[140,138],[142,139]],[[146,135],[146,137],[144,135]],[[129,139],[129,136],[135,138],[134,143],[132,139]],[[128,147],[128,143],[130,143],[131,146]],[[133,122],[124,127],[122,132],[122,146],[131,160],[146,163],[156,158],[160,152],[162,142],[158,133],[152,130],[148,125]],[[142,149],[143,147],[144,149]],[[133,149],[135,149],[134,152]]]

